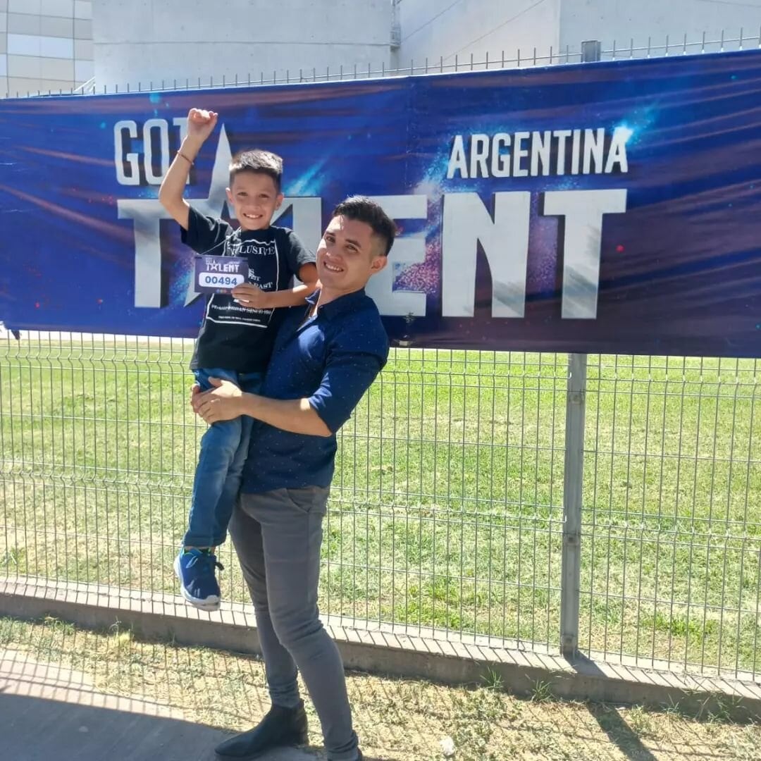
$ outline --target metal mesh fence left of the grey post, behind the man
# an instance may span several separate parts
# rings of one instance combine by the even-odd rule
[[[0,358],[5,571],[174,592],[203,431],[187,342],[8,336]],[[396,349],[339,435],[323,612],[553,644],[564,375]]]

